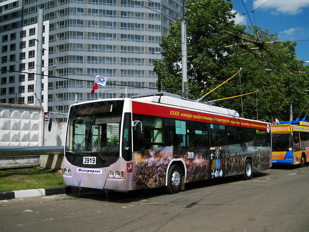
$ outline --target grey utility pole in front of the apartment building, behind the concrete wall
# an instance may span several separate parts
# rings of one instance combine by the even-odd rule
[[[36,106],[41,106],[42,102],[42,51],[43,51],[43,9],[38,10],[38,32],[36,50],[36,86],[35,93],[38,101]]]

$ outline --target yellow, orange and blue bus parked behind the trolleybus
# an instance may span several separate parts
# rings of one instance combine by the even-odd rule
[[[306,166],[309,162],[309,122],[287,121],[271,126],[273,164]]]

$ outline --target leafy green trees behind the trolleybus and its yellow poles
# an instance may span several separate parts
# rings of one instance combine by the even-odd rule
[[[307,66],[299,64],[302,61],[296,57],[296,42],[279,42],[277,34],[257,26],[235,25],[236,13],[232,13],[229,0],[188,0],[186,8],[190,99],[199,99],[241,69],[240,75],[203,101],[258,90],[251,95],[217,101],[216,105],[237,110],[245,118],[287,121],[291,102],[293,119],[298,117],[309,101],[305,92],[309,78],[308,73],[295,73],[308,72]],[[178,95],[182,89],[180,39],[180,22],[172,22],[170,33],[162,37],[160,44],[164,58],[155,60],[154,64],[159,89]],[[252,44],[250,40],[257,43]],[[260,48],[250,49],[257,46]],[[308,109],[309,105],[301,118]]]

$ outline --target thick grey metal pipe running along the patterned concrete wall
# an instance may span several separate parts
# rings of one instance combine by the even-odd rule
[[[64,154],[64,146],[0,146],[0,157],[57,154]]]

